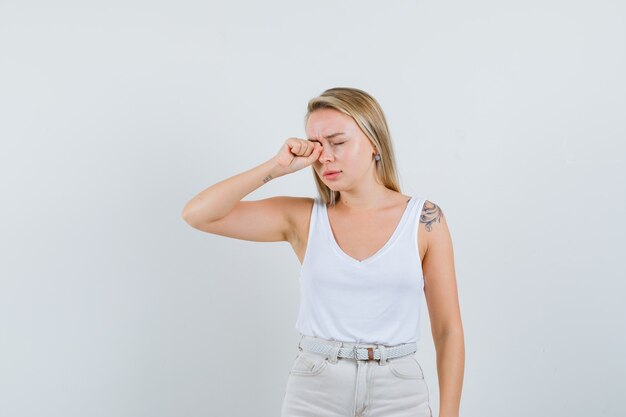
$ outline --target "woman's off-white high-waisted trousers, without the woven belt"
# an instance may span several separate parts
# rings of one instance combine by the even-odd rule
[[[352,348],[354,343],[325,341]],[[359,344],[362,347],[377,347]],[[281,417],[432,417],[428,386],[415,354],[355,360],[302,350],[287,380]]]

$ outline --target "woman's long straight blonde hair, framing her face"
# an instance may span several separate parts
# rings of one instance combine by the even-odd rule
[[[330,88],[309,100],[307,113],[304,117],[305,128],[311,113],[319,109],[335,109],[352,117],[361,131],[378,150],[380,155],[380,160],[376,162],[378,179],[390,190],[400,192],[400,182],[398,181],[396,158],[391,144],[391,134],[387,127],[385,114],[374,97],[356,88]],[[315,178],[319,196],[326,204],[334,205],[335,202],[339,201],[340,192],[333,191],[324,184],[316,174],[315,169],[313,169],[313,177]]]

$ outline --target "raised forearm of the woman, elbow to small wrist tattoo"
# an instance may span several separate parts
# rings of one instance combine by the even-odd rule
[[[246,195],[281,175],[272,158],[200,192],[185,205],[182,217],[190,224],[221,219]]]

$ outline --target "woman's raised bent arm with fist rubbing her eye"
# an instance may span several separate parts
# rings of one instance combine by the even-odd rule
[[[183,208],[183,219],[207,233],[257,242],[290,240],[290,208],[296,197],[241,201],[272,179],[295,172],[319,158],[321,145],[289,138],[270,160],[222,180],[193,197]]]

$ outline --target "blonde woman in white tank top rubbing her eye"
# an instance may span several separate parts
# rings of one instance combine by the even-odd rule
[[[439,417],[457,417],[465,351],[441,208],[400,192],[385,116],[366,92],[326,90],[309,102],[305,130],[308,139],[287,139],[273,158],[207,188],[183,210],[208,233],[288,241],[302,264],[299,354],[282,416],[432,416],[414,356],[424,294]],[[241,201],[309,165],[317,198]]]

